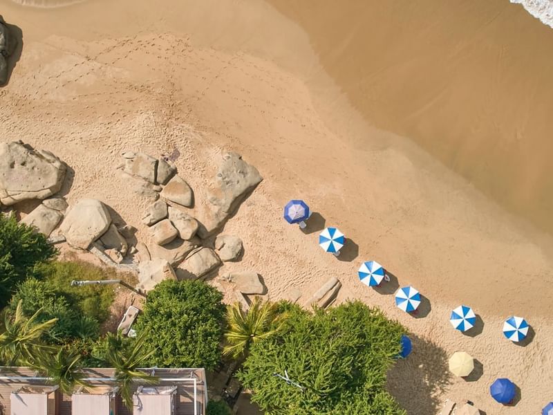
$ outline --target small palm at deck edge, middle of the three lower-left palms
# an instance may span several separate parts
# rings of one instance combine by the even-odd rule
[[[64,394],[72,394],[77,385],[91,387],[83,380],[82,356],[76,351],[62,348],[55,354],[41,353],[37,363],[37,369]]]

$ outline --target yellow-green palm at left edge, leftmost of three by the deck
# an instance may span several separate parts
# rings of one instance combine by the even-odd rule
[[[6,313],[3,333],[0,334],[0,359],[5,365],[32,365],[37,353],[52,349],[41,338],[56,324],[57,318],[37,322],[41,311],[42,308],[39,308],[27,319],[19,301],[13,315]]]

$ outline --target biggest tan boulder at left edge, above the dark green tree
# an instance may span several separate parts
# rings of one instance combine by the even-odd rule
[[[22,141],[0,143],[0,203],[46,199],[59,192],[66,165],[49,151]]]

